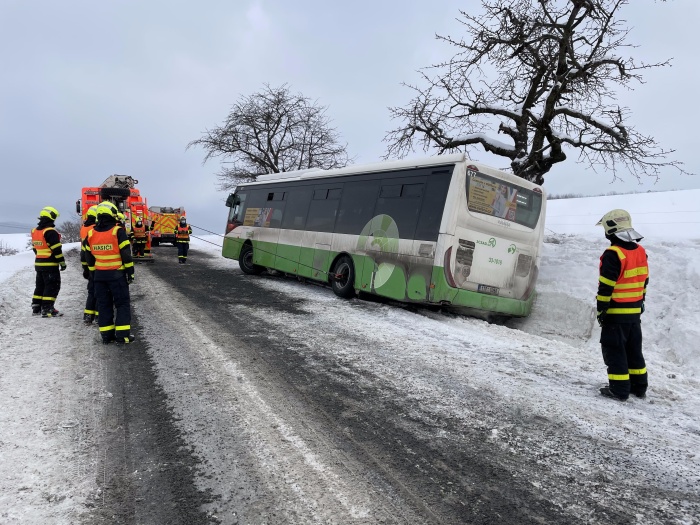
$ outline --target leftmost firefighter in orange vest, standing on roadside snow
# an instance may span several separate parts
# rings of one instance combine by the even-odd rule
[[[36,286],[32,296],[32,314],[41,317],[63,315],[56,308],[56,298],[61,289],[61,274],[66,269],[61,247],[61,234],[56,231],[58,210],[47,206],[39,212],[39,223],[32,229],[32,250],[36,255]],[[59,270],[60,268],[60,270]]]

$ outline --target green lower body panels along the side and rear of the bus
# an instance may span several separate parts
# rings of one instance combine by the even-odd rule
[[[288,233],[282,232],[280,237],[285,237]],[[295,234],[309,235],[309,232],[295,232]],[[352,259],[355,266],[355,289],[359,292],[372,293],[397,301],[440,305],[485,319],[493,317],[494,314],[524,317],[529,315],[532,309],[534,292],[523,300],[517,300],[454,288],[448,284],[444,268],[433,264],[433,257],[387,253],[371,249],[357,252],[357,244],[362,244],[365,240],[360,238],[358,242],[355,237],[351,250],[351,247],[343,246],[350,239],[343,239],[343,237],[345,236],[329,235],[327,242],[314,242],[311,246],[300,246],[304,241],[299,244],[278,244],[255,239],[226,237],[222,253],[224,257],[238,260],[242,245],[245,242],[252,242],[255,264],[328,283],[332,265],[338,255],[355,251],[352,253]],[[313,240],[324,241],[325,239]],[[419,243],[419,241],[402,240],[401,243],[404,243],[405,249],[397,247],[396,251],[406,252],[410,249],[408,246],[411,243]],[[365,247],[371,247],[371,245],[366,244]],[[415,253],[420,249],[418,246]],[[428,255],[429,251],[425,247],[423,249]]]

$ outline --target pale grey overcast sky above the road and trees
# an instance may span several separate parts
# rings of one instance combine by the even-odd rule
[[[676,149],[675,158],[698,176],[669,170],[655,186],[631,176],[610,184],[609,174],[567,161],[545,177],[550,193],[700,188],[693,44],[700,2],[632,3],[623,13],[632,27],[629,42],[640,46],[634,56],[674,60],[649,72],[634,92],[620,92],[620,103],[632,109],[641,132]],[[80,188],[118,173],[139,180],[149,205],[185,206],[192,224],[221,231],[220,165],[202,165],[204,152],[186,146],[265,83],[288,83],[328,106],[356,162],[376,161],[395,125],[387,107],[412,96],[401,83],[416,82],[419,68],[454,54],[435,34],[463,34],[459,9],[476,5],[0,0],[0,224],[33,225],[47,205],[59,209],[59,223],[74,219]],[[483,153],[472,157],[499,162]]]

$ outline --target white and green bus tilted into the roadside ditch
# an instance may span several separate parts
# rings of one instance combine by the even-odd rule
[[[544,190],[464,153],[261,175],[226,205],[222,255],[246,274],[487,320],[532,310]]]

